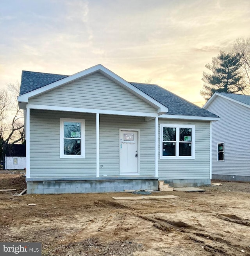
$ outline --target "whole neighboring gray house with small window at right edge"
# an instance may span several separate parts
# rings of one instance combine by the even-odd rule
[[[250,96],[216,92],[204,105],[212,124],[212,178],[250,181]]]

